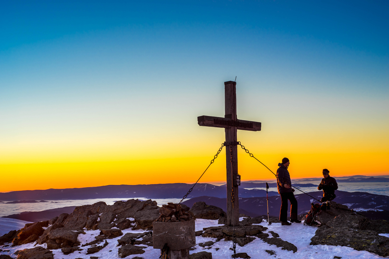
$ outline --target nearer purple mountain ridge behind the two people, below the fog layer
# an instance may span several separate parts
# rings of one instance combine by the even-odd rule
[[[322,191],[314,191],[308,193],[309,195],[321,199],[323,196]],[[378,210],[389,210],[389,196],[376,195],[365,192],[347,192],[347,191],[335,191],[336,198],[334,202],[345,204],[350,209],[378,209]],[[298,214],[302,214],[310,210],[311,203],[317,203],[314,199],[306,194],[295,195],[298,201]],[[222,208],[226,211],[227,199],[216,198],[209,196],[200,196],[186,200],[182,203],[191,207],[195,202],[205,202],[208,205],[214,205]],[[269,214],[278,217],[280,214],[281,200],[280,196],[269,197]],[[255,198],[239,198],[239,209],[240,213],[246,214],[247,216],[256,217],[267,215],[266,197],[255,197]],[[361,212],[363,214],[363,212]]]

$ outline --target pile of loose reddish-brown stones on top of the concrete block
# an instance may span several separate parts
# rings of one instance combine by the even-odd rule
[[[193,214],[189,212],[189,207],[184,204],[168,202],[159,209],[159,222],[179,222],[193,219]]]

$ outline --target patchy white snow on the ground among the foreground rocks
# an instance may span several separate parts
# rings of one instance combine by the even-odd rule
[[[242,220],[243,218],[240,218]],[[267,231],[274,231],[280,235],[279,238],[282,240],[293,243],[297,247],[297,252],[293,253],[293,251],[282,250],[282,247],[276,247],[275,245],[269,245],[268,243],[263,242],[261,239],[256,238],[253,242],[248,243],[244,247],[240,247],[237,245],[237,253],[246,252],[252,259],[333,259],[334,256],[342,257],[342,259],[373,259],[373,258],[384,258],[377,256],[375,254],[371,254],[366,251],[357,251],[351,249],[349,247],[340,247],[340,246],[329,246],[329,245],[309,245],[310,238],[314,236],[316,227],[304,226],[302,223],[293,223],[291,226],[281,226],[281,223],[273,223],[270,226],[266,225],[267,223],[263,221],[261,223],[262,226],[266,226],[269,229]],[[196,219],[196,231],[202,230],[203,228],[210,226],[221,226],[217,224],[217,220],[207,220],[207,219]],[[85,235],[79,235],[79,241],[81,244],[90,242],[95,240],[94,236],[98,235],[100,231],[85,231]],[[125,233],[142,233],[144,231],[132,231],[129,229],[123,230],[123,234]],[[386,234],[389,235],[389,234]],[[272,234],[269,233],[269,237],[272,237]],[[54,259],[75,259],[75,258],[85,258],[89,259],[91,256],[97,256],[100,259],[110,259],[110,258],[119,258],[117,254],[116,247],[117,240],[121,238],[121,236],[113,239],[107,239],[109,245],[102,249],[100,252],[95,254],[86,255],[86,250],[88,247],[81,247],[82,251],[75,251],[73,254],[64,255],[60,249],[53,250]],[[202,236],[196,236],[196,244],[204,243],[207,241],[216,241],[216,238],[203,238]],[[102,243],[103,244],[103,243]],[[0,247],[3,250],[10,250],[9,252],[1,252],[1,254],[8,254],[11,257],[16,257],[13,253],[16,250],[21,250],[25,248],[32,248],[34,243],[21,245],[18,247]],[[42,245],[46,247],[46,244]],[[232,251],[230,250],[232,247],[232,241],[224,241],[221,240],[219,242],[214,243],[210,249],[205,249],[200,247],[199,245],[195,246],[195,250],[190,253],[196,253],[201,251],[207,251],[212,253],[213,259],[228,259],[231,258]],[[219,248],[218,250],[216,250]],[[158,259],[160,256],[159,249],[153,249],[152,247],[147,247],[144,254],[131,255],[126,257],[126,259],[131,259],[133,257],[143,257],[145,259]],[[275,255],[270,255],[265,250],[273,250]]]

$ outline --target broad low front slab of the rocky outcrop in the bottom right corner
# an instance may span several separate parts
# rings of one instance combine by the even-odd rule
[[[389,256],[389,238],[380,236],[375,231],[327,227],[316,232],[311,238],[311,245],[341,245],[355,250],[366,250],[379,256]]]

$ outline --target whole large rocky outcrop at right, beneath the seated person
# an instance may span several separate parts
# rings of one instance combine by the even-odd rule
[[[387,233],[389,222],[372,221],[335,202],[330,210],[322,211],[317,220],[320,228],[311,238],[311,245],[341,245],[355,250],[366,250],[379,256],[389,256],[389,238],[378,235]]]

